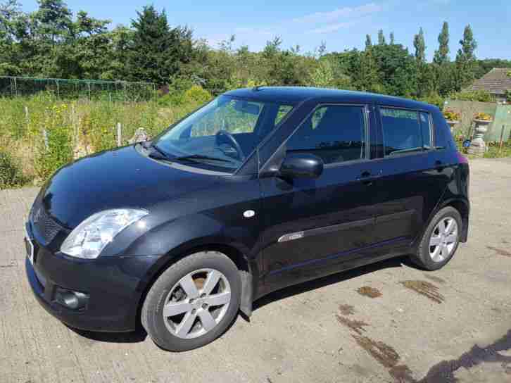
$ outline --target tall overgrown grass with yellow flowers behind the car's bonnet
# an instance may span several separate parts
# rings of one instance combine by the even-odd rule
[[[152,137],[207,101],[196,87],[172,99],[124,103],[46,96],[0,99],[0,189],[42,184],[65,163],[122,145],[144,127]]]

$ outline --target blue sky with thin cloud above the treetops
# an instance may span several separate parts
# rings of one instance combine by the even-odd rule
[[[36,0],[20,0],[25,11],[37,8]],[[188,25],[195,37],[209,44],[236,35],[236,45],[251,51],[263,48],[274,36],[284,46],[299,44],[303,52],[314,51],[322,40],[327,51],[363,48],[365,34],[377,40],[379,29],[387,39],[394,32],[396,42],[413,51],[413,35],[423,27],[427,56],[438,47],[437,37],[444,20],[450,27],[450,56],[455,58],[463,28],[470,24],[479,47],[478,58],[511,59],[511,1],[509,0],[348,0],[348,1],[173,1],[164,0],[74,0],[73,12],[84,10],[113,24],[129,24],[135,11],[146,4],[165,8],[170,25]]]

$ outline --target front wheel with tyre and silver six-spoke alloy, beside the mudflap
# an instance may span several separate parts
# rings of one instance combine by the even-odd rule
[[[178,260],[158,277],[141,310],[141,322],[162,349],[187,351],[220,337],[239,310],[238,268],[222,253]]]

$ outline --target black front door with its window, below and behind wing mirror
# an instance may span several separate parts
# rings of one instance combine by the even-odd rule
[[[369,256],[373,243],[372,184],[363,105],[318,106],[285,143],[286,153],[322,158],[319,178],[260,180],[265,209],[265,284],[277,289],[343,269]]]

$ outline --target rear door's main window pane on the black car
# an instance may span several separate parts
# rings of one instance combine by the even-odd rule
[[[422,151],[422,130],[416,111],[380,108],[385,156]]]

